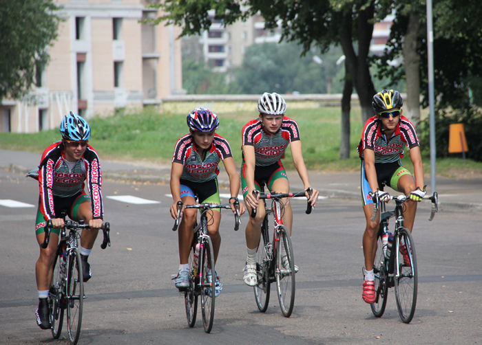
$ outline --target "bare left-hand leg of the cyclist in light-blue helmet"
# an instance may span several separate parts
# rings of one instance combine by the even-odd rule
[[[36,286],[39,291],[45,291],[50,288],[52,274],[54,273],[54,258],[59,243],[59,235],[50,234],[49,245],[43,249],[40,245],[43,243],[45,234],[38,234],[36,241],[39,242],[40,256],[35,264]]]

